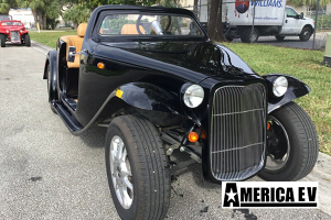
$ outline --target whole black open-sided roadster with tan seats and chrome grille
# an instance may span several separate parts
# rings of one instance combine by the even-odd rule
[[[313,123],[292,101],[309,87],[259,76],[184,9],[99,7],[77,35],[58,38],[43,78],[73,134],[108,128],[108,183],[122,219],[164,218],[170,177],[192,163],[221,184],[298,180],[317,162]],[[191,160],[175,164],[174,151]]]

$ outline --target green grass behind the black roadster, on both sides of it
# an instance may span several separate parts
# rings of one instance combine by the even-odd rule
[[[56,40],[76,31],[30,32],[33,41],[55,48]],[[260,75],[282,73],[306,82],[311,92],[296,100],[311,117],[320,151],[331,155],[331,68],[322,66],[323,52],[260,44],[225,43]]]

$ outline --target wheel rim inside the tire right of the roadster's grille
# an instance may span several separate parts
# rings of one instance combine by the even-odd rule
[[[285,128],[277,119],[270,117],[269,123],[271,123],[273,133],[267,134],[269,155],[265,168],[275,172],[281,169],[287,163],[290,143]]]

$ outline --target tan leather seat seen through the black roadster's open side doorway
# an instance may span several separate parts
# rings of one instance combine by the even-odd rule
[[[79,26],[77,29],[77,35],[68,35],[68,36],[60,37],[62,41],[64,41],[66,43],[65,59],[67,59],[70,46],[75,46],[76,53],[82,51],[82,45],[83,45],[85,32],[86,32],[86,26],[87,26],[87,23],[82,23],[82,24],[79,24]],[[79,58],[81,58],[81,55],[77,55],[77,56],[75,56],[74,63],[67,62],[67,67],[68,68],[79,68]]]

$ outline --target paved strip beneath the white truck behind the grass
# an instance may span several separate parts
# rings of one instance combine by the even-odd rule
[[[293,47],[293,48],[312,48],[312,35],[309,41],[301,42],[299,36],[286,36],[282,42],[278,42],[275,36],[260,36],[257,41],[258,44],[270,44],[274,46]],[[316,34],[316,48],[323,50],[325,47],[327,33]],[[233,42],[242,42],[239,38],[233,40]]]

